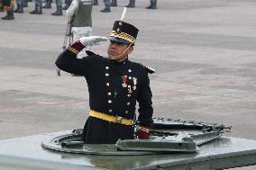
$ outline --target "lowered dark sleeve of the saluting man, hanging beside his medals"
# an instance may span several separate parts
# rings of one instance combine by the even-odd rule
[[[150,79],[148,73],[144,73],[144,78],[142,85],[139,89],[137,101],[139,103],[139,116],[138,121],[141,125],[151,125],[153,122],[152,114],[152,94],[151,94],[151,86]]]

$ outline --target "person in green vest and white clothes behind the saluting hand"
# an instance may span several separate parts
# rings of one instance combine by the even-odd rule
[[[92,4],[92,0],[73,0],[67,10],[74,41],[92,34]],[[86,48],[79,52],[78,58],[85,56]]]

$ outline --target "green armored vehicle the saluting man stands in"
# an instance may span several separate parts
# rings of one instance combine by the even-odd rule
[[[134,126],[136,130],[136,126]],[[230,126],[155,118],[150,139],[86,145],[82,130],[0,140],[1,170],[220,170],[256,165],[256,141],[224,137]]]

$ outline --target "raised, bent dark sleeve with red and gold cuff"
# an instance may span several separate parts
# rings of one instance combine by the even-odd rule
[[[59,55],[55,62],[56,66],[68,73],[86,76],[95,58],[92,56],[77,58],[78,52],[84,48],[85,46],[79,41],[73,43]]]

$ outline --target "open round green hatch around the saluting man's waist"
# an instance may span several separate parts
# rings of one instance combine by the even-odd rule
[[[216,123],[154,118],[150,139],[123,139],[114,145],[84,144],[82,129],[42,142],[42,148],[85,155],[153,155],[195,153],[201,145],[218,139],[231,127]],[[134,126],[136,130],[136,125]]]

